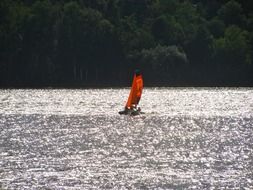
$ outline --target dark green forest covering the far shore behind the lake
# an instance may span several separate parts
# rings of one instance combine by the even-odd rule
[[[0,87],[253,86],[252,0],[1,0]]]

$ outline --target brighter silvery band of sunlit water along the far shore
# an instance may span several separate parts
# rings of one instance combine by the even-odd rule
[[[1,90],[1,114],[117,115],[129,89]],[[252,89],[148,88],[147,113],[184,116],[252,116]]]

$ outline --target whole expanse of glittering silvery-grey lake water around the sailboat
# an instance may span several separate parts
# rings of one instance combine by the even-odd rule
[[[253,189],[252,88],[0,90],[0,189]]]

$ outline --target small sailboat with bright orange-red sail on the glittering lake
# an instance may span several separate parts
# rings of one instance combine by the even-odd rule
[[[132,82],[132,87],[130,94],[125,105],[125,110],[120,111],[119,114],[124,115],[139,115],[141,112],[138,103],[141,99],[143,89],[143,78],[139,70],[136,70],[134,73],[134,78]]]

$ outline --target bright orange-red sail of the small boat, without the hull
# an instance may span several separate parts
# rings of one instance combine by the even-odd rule
[[[137,106],[137,100],[141,98],[143,89],[142,75],[134,75],[131,91],[127,100],[126,107],[131,108],[133,105]]]

